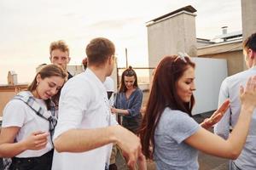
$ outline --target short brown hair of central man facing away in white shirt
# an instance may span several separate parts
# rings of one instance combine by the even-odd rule
[[[113,55],[115,48],[113,42],[104,37],[97,37],[90,41],[86,47],[88,65],[102,65],[109,56]]]

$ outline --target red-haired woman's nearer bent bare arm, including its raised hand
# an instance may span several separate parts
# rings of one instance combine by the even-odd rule
[[[224,140],[201,128],[197,133],[185,139],[185,142],[207,154],[236,159],[245,144],[253,109],[256,105],[255,82],[256,77],[253,77],[253,79],[250,78],[247,82],[246,89],[243,90],[241,88],[241,113],[229,139]]]

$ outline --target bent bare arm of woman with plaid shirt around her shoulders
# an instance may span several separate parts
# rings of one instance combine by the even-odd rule
[[[14,157],[24,150],[41,150],[47,144],[48,133],[32,133],[26,139],[14,143],[20,127],[3,127],[0,135],[0,157]]]

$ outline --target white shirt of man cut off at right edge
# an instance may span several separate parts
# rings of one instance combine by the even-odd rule
[[[235,127],[238,120],[241,103],[239,95],[239,87],[245,86],[249,77],[256,76],[256,67],[242,71],[233,75],[231,77],[225,78],[222,82],[218,105],[221,105],[225,99],[230,99],[230,108],[226,111],[223,118],[218,122],[214,127],[214,133],[217,133],[219,136],[224,139],[228,139],[230,135],[230,126]],[[241,151],[241,155],[235,161],[236,166],[247,169],[255,170],[256,169],[256,111],[253,112],[253,119],[250,124],[249,133],[247,136],[246,144]]]

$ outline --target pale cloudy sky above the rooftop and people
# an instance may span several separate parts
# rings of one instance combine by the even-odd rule
[[[69,65],[80,65],[85,47],[94,37],[114,42],[118,66],[148,66],[146,22],[177,8],[192,5],[196,37],[212,39],[241,31],[241,0],[0,0],[0,84],[8,71],[18,82],[32,82],[36,67],[49,64],[49,44],[64,40],[70,48]]]

